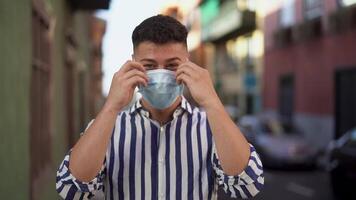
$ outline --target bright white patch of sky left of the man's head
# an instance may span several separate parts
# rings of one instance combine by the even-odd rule
[[[121,65],[131,59],[131,34],[144,19],[156,15],[174,0],[111,0],[108,11],[97,16],[107,21],[103,42],[103,93],[107,96],[111,79]]]

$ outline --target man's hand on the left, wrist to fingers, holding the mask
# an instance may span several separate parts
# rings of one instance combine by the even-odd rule
[[[132,100],[135,87],[142,84],[147,86],[148,78],[142,64],[127,61],[119,71],[114,74],[111,82],[106,106],[119,112]]]

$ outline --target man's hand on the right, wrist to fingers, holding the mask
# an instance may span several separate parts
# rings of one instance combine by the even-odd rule
[[[182,63],[176,72],[177,82],[184,83],[194,100],[203,108],[220,102],[215,92],[209,71],[187,61]]]

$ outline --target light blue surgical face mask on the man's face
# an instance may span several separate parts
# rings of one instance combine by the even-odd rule
[[[176,82],[175,73],[166,69],[147,71],[147,87],[139,86],[143,98],[157,109],[171,106],[179,95],[183,94],[183,86]]]

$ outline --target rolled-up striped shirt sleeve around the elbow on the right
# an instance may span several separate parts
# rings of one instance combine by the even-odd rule
[[[212,154],[212,165],[216,173],[218,187],[222,187],[224,192],[231,198],[246,199],[256,196],[263,188],[264,176],[262,162],[250,144],[250,158],[243,172],[236,176],[227,175],[220,164],[216,149]]]

